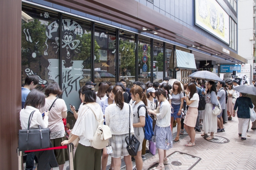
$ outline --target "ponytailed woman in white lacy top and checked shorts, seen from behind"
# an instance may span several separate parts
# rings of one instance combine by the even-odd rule
[[[129,136],[129,120],[133,122],[133,112],[130,104],[124,103],[124,97],[120,86],[113,88],[113,97],[115,99],[114,104],[110,104],[105,110],[106,125],[109,126],[112,137],[109,139],[109,145],[112,146],[113,153],[110,156],[113,158],[114,170],[120,170],[121,168],[121,156],[124,156],[124,162],[126,169],[132,169],[132,160],[129,155],[125,142],[126,136]],[[130,117],[129,117],[130,115]],[[134,132],[134,128],[131,124],[131,133]],[[106,168],[102,168],[106,169]]]

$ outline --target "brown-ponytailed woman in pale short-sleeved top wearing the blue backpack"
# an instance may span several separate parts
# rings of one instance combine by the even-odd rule
[[[138,107],[142,104],[147,106],[148,104],[147,96],[143,92],[140,86],[134,86],[130,92],[131,92],[132,101],[134,101],[134,103],[132,104],[133,117],[134,117],[132,126],[134,127],[134,136],[140,142],[137,155],[134,156],[134,158],[135,158],[135,164],[136,164],[137,170],[142,170],[143,161],[141,157],[141,150],[142,150],[142,143],[145,137],[143,127],[145,126],[146,108],[141,107],[139,109],[139,115],[138,115]]]

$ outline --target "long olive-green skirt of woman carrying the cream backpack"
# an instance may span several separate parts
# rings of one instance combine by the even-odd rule
[[[74,170],[100,170],[101,149],[78,144],[74,157]]]

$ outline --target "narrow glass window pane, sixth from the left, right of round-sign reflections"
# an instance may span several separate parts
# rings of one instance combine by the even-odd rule
[[[153,76],[154,82],[163,80],[163,42],[153,41]]]

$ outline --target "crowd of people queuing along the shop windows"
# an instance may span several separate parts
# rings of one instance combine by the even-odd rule
[[[168,84],[168,81],[168,77],[165,77],[161,83],[144,84],[136,81],[131,89],[126,87],[124,79],[114,86],[110,82],[102,82],[97,92],[94,88],[96,83],[86,82],[78,91],[81,100],[78,112],[70,105],[76,119],[74,127],[70,130],[69,124],[67,128],[65,127],[67,106],[63,99],[58,98],[62,94],[58,83],[49,83],[43,93],[35,89],[39,83],[38,77],[29,75],[22,87],[21,127],[27,129],[30,113],[35,111],[30,127],[37,128],[40,125],[42,128],[50,128],[51,147],[63,146],[79,139],[74,149],[75,170],[82,170],[84,167],[90,170],[101,168],[106,170],[109,155],[111,156],[109,170],[121,169],[121,156],[124,156],[127,170],[142,170],[143,160],[146,159],[144,155],[149,153],[149,141],[145,139],[143,129],[147,116],[152,119],[154,131],[151,142],[155,142],[159,154],[156,170],[162,170],[164,164],[168,164],[166,150],[173,147],[174,121],[177,122],[178,130],[174,141],[179,141],[185,128],[190,137],[190,141],[186,144],[189,147],[195,146],[195,131],[201,132],[200,125],[204,131],[201,136],[207,136],[206,139],[211,140],[215,133],[225,132],[223,114],[227,113],[228,120],[232,120],[232,116],[237,114],[238,135],[241,136],[241,140],[246,140],[250,108],[253,108],[252,104],[256,104],[256,97],[245,93],[240,95],[235,91],[234,87],[239,86],[236,80],[226,82],[191,80],[190,83],[185,84],[175,81],[173,86]],[[200,97],[205,99],[204,110],[198,110]],[[141,107],[142,105],[146,107]],[[213,114],[213,108],[216,106],[221,107],[222,111],[219,115]],[[107,146],[102,151],[91,145],[100,123],[98,120],[103,119],[112,134],[108,142],[112,147],[110,153]],[[131,156],[127,150],[126,137],[129,136],[129,129],[140,143],[135,156]],[[254,122],[252,129],[256,129]],[[59,170],[63,170],[65,161],[68,160],[68,153],[67,149],[30,152],[26,158],[26,170],[33,169],[34,159],[38,163],[38,170],[50,170],[57,166]],[[132,166],[132,161],[135,161],[135,166]]]

